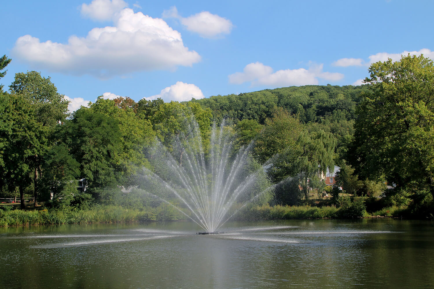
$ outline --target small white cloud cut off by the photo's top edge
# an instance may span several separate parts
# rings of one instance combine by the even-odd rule
[[[123,0],[93,0],[90,4],[83,3],[81,14],[90,19],[99,21],[111,20],[115,13],[128,7]]]

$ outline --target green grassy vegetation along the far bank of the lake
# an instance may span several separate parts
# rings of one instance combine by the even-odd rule
[[[124,208],[118,205],[95,205],[91,208],[43,208],[34,210],[11,209],[12,206],[0,206],[0,227],[32,226],[50,224],[97,224],[97,223],[146,223],[163,221],[189,221],[190,219],[177,209],[168,205],[157,208]],[[285,219],[358,219],[358,218],[406,218],[411,214],[407,208],[396,206],[382,208],[368,213],[365,207],[309,205],[262,205],[243,208],[231,220],[285,220]]]

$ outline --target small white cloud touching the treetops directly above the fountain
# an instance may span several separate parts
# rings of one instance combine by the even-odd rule
[[[192,97],[196,99],[204,98],[204,94],[196,85],[178,81],[176,84],[161,90],[160,94],[156,94],[151,97],[145,97],[145,99],[152,101],[158,97],[162,98],[165,102],[189,101]]]

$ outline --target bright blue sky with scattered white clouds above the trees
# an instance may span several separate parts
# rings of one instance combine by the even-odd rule
[[[0,56],[50,77],[69,110],[103,95],[188,101],[362,84],[369,65],[434,59],[431,0],[4,1]]]

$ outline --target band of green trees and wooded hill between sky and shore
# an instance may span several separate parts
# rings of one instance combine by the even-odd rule
[[[0,77],[9,62],[0,58]],[[0,88],[0,192],[31,194],[37,205],[49,191],[66,200],[76,191],[71,180],[85,178],[86,198],[113,201],[107,188],[131,185],[143,167],[152,169],[144,152],[156,140],[170,145],[194,116],[205,148],[212,123],[229,119],[238,147],[253,140],[257,162],[275,158],[270,180],[291,178],[276,188],[274,204],[294,205],[312,189],[324,191],[319,173],[337,164],[345,192],[386,192],[396,204],[429,211],[433,70],[430,59],[408,55],[372,64],[360,86],[305,85],[183,103],[98,97],[70,115],[50,78],[17,73],[9,90]],[[386,190],[386,183],[396,188]]]

